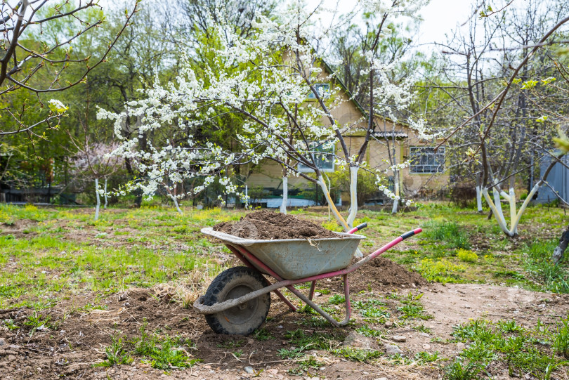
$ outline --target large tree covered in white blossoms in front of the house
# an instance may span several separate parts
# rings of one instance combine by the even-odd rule
[[[360,11],[381,11],[384,18],[388,18],[423,2],[402,0],[384,6],[381,1],[362,1]],[[334,74],[322,70],[322,55],[309,44],[311,39],[325,38],[315,37],[310,27],[317,13],[318,10],[307,11],[302,4],[296,4],[278,21],[257,14],[252,23],[254,33],[248,37],[240,37],[228,32],[230,28],[225,25],[218,25],[223,47],[217,52],[217,65],[203,68],[207,79],[197,79],[190,65],[183,63],[176,81],[168,84],[156,81],[152,89],[145,91],[143,100],[127,103],[124,112],[117,114],[100,109],[98,117],[113,120],[115,134],[122,139],[113,154],[131,159],[145,174],[120,191],[140,189],[151,197],[163,183],[174,185],[185,178],[200,177],[204,184],[192,192],[199,192],[214,181],[225,186],[226,192],[237,192],[231,178],[235,167],[272,161],[282,166],[283,178],[301,176],[318,185],[345,230],[350,228],[358,211],[359,170],[372,171],[377,176],[378,189],[399,201],[398,195],[379,185],[385,171],[367,168],[362,157],[374,128],[373,114],[377,107],[388,102],[403,107],[412,99],[412,93],[408,86],[392,84],[382,74],[386,67],[374,61],[373,51],[367,54],[369,73],[373,73],[370,80],[376,84],[373,76],[377,75],[382,84],[372,86],[372,98],[377,99],[377,105],[372,103],[369,123],[364,128],[366,143],[356,155],[351,155],[344,136],[362,127],[339,122],[334,110],[344,100],[327,96],[317,86],[329,81],[332,83],[330,93],[341,91],[334,84]],[[377,33],[379,38],[381,32]],[[306,102],[308,94],[315,102]],[[233,144],[238,149],[230,151],[215,142],[193,137],[198,126],[225,112],[244,117],[242,132],[233,136]],[[138,149],[138,137],[122,137],[121,129],[127,117],[140,118],[139,136],[150,132],[163,136],[162,140],[149,143],[148,150]],[[417,128],[421,136],[426,134],[421,121],[412,127]],[[320,169],[322,159],[334,159],[336,164],[351,171],[351,209],[347,218],[332,202]],[[300,171],[299,164],[311,169],[314,175]],[[188,194],[177,193],[173,197],[185,195]]]

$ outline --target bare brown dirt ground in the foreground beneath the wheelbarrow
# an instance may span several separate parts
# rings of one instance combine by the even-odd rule
[[[390,289],[393,291],[393,289]],[[405,336],[405,342],[395,343],[404,355],[412,358],[419,351],[439,351],[444,357],[452,358],[464,348],[463,343],[443,343],[449,339],[452,327],[471,319],[516,320],[521,325],[532,326],[540,318],[544,323],[554,323],[558,316],[567,315],[569,297],[526,291],[511,287],[487,284],[433,284],[421,288],[421,301],[426,313],[434,316],[424,323],[432,329],[431,334],[416,332],[408,326],[398,326],[396,319],[388,336]],[[376,293],[377,294],[377,293]],[[366,299],[369,294],[358,294],[355,299]],[[324,299],[325,296],[319,298]],[[53,320],[63,320],[67,308],[74,302],[69,300],[51,310]],[[303,315],[291,313],[273,297],[270,320],[264,327],[274,339],[259,341],[254,337],[216,335],[193,310],[171,303],[167,292],[158,289],[131,289],[111,296],[105,301],[106,310],[91,310],[85,313],[65,315],[58,329],[29,332],[1,331],[0,378],[1,379],[244,379],[257,376],[259,379],[301,379],[287,373],[290,360],[277,355],[279,348],[289,348],[284,338],[287,330],[304,328],[310,334],[324,330],[338,337],[339,341],[348,335],[348,329],[322,327],[310,329],[299,325]],[[320,299],[318,301],[321,301]],[[389,305],[388,305],[389,307]],[[393,310],[395,312],[395,310]],[[1,318],[23,320],[31,310],[3,310]],[[110,336],[121,334],[136,336],[144,321],[148,329],[162,329],[169,334],[179,334],[188,339],[185,347],[188,353],[203,362],[192,368],[174,370],[168,374],[150,365],[135,360],[132,365],[114,366],[110,369],[93,367],[103,360],[103,347],[110,344]],[[433,337],[441,342],[433,342]],[[189,342],[195,342],[190,346]],[[387,343],[388,339],[384,339]],[[233,352],[239,348],[237,357]],[[377,347],[383,349],[381,342]],[[348,362],[334,358],[326,352],[313,352],[325,363],[314,376],[324,379],[438,379],[440,369],[431,367],[397,366],[379,360],[373,364]],[[258,374],[247,374],[244,367],[252,367]],[[509,379],[507,369],[498,371],[495,379]],[[305,376],[306,377],[306,376]],[[318,378],[318,377],[317,377]]]

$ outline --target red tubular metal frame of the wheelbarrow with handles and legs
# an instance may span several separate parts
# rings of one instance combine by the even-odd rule
[[[348,233],[353,234],[354,232],[357,232],[358,230],[362,230],[365,227],[367,227],[367,223],[362,223],[362,224],[358,225],[357,227],[349,230]],[[287,306],[292,311],[296,311],[296,307],[284,296],[284,294],[282,294],[278,290],[282,287],[286,287],[287,289],[289,289],[289,291],[292,292],[292,294],[299,297],[299,299],[301,299],[301,301],[303,301],[308,306],[313,308],[317,313],[322,315],[322,317],[324,317],[328,322],[332,323],[332,325],[334,325],[336,327],[345,326],[348,324],[348,322],[350,321],[350,317],[351,317],[350,285],[348,282],[348,274],[352,273],[354,270],[357,270],[358,268],[361,268],[366,263],[368,263],[369,261],[372,261],[374,258],[383,254],[385,251],[392,248],[396,244],[403,242],[403,240],[407,239],[408,237],[412,237],[413,235],[417,235],[421,231],[422,231],[421,228],[415,228],[414,230],[410,230],[409,232],[405,232],[403,235],[400,235],[399,237],[392,240],[391,242],[388,242],[387,244],[385,244],[383,247],[381,247],[377,251],[374,251],[372,254],[369,254],[365,258],[362,258],[360,261],[354,263],[351,266],[348,266],[347,268],[344,268],[341,270],[334,270],[334,271],[328,272],[328,273],[322,273],[320,275],[303,277],[303,278],[299,278],[297,280],[284,280],[282,277],[277,275],[277,273],[275,273],[274,270],[272,270],[265,263],[263,263],[261,260],[259,260],[259,258],[256,258],[254,256],[254,254],[251,254],[251,252],[249,252],[245,247],[242,247],[239,244],[233,244],[233,243],[227,243],[226,242],[225,246],[228,247],[228,249],[231,252],[233,252],[233,254],[235,256],[237,256],[237,258],[239,258],[240,261],[242,261],[242,263],[244,263],[245,266],[247,266],[249,268],[253,268],[254,270],[259,270],[257,268],[261,268],[263,271],[268,273],[268,275],[274,277],[277,280],[277,282],[271,283],[265,276],[263,276],[263,279],[265,279],[265,282],[267,285],[263,289],[251,291],[251,293],[245,294],[244,296],[240,296],[237,299],[229,299],[227,301],[215,303],[214,305],[211,305],[211,306],[204,305],[204,303],[203,303],[204,297],[200,296],[200,298],[198,298],[195,301],[193,307],[200,314],[216,314],[216,313],[220,313],[223,310],[227,310],[229,308],[233,308],[237,305],[240,305],[241,303],[250,301],[252,299],[256,299],[257,297],[262,296],[263,294],[269,293],[270,291],[273,291],[284,303],[287,304]],[[346,317],[341,322],[336,321],[334,319],[334,317],[332,317],[332,315],[329,315],[328,313],[326,313],[316,303],[314,303],[312,301],[313,296],[314,296],[314,291],[316,288],[316,282],[318,280],[324,280],[326,278],[336,277],[336,276],[342,276],[342,278],[344,280],[344,299],[346,302]],[[299,291],[298,289],[293,287],[294,284],[300,284],[302,282],[311,282],[310,291],[308,292],[308,297],[305,296],[304,294],[302,294],[301,291]]]

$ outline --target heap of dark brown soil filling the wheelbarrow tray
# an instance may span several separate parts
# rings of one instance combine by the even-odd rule
[[[214,231],[244,239],[324,239],[338,237],[334,232],[292,215],[274,211],[256,211],[247,214],[235,223],[223,222],[214,225]]]

